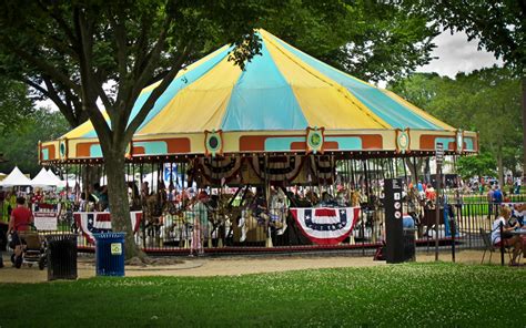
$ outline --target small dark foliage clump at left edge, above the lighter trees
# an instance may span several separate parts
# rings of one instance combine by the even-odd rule
[[[0,135],[23,129],[33,104],[26,84],[0,76]]]

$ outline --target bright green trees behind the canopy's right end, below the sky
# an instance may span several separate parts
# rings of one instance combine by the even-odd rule
[[[503,166],[516,171],[523,154],[518,142],[523,135],[520,81],[510,69],[494,66],[459,73],[454,80],[415,73],[388,89],[452,126],[478,131],[482,150],[497,164],[500,158]]]

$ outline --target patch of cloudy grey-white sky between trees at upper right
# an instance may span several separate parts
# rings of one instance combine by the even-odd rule
[[[469,73],[473,70],[503,63],[502,60],[495,59],[493,53],[477,50],[477,42],[468,42],[464,32],[456,32],[452,35],[449,31],[445,31],[434,41],[437,47],[432,55],[437,59],[418,68],[417,72],[437,72],[441,75],[454,78],[458,72]]]

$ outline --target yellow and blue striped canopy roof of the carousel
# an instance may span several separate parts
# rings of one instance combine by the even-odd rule
[[[341,72],[264,30],[257,33],[261,55],[244,71],[229,61],[232,49],[226,45],[181,71],[136,135],[307,126],[455,130],[392,92]],[[155,86],[142,91],[131,117]],[[95,136],[89,122],[65,135]]]

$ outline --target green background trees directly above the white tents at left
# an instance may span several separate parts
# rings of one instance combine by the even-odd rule
[[[0,153],[9,162],[0,164],[0,172],[9,173],[18,165],[23,173],[34,176],[40,171],[38,143],[64,134],[69,124],[59,112],[38,110],[26,119],[23,129],[0,136]]]

